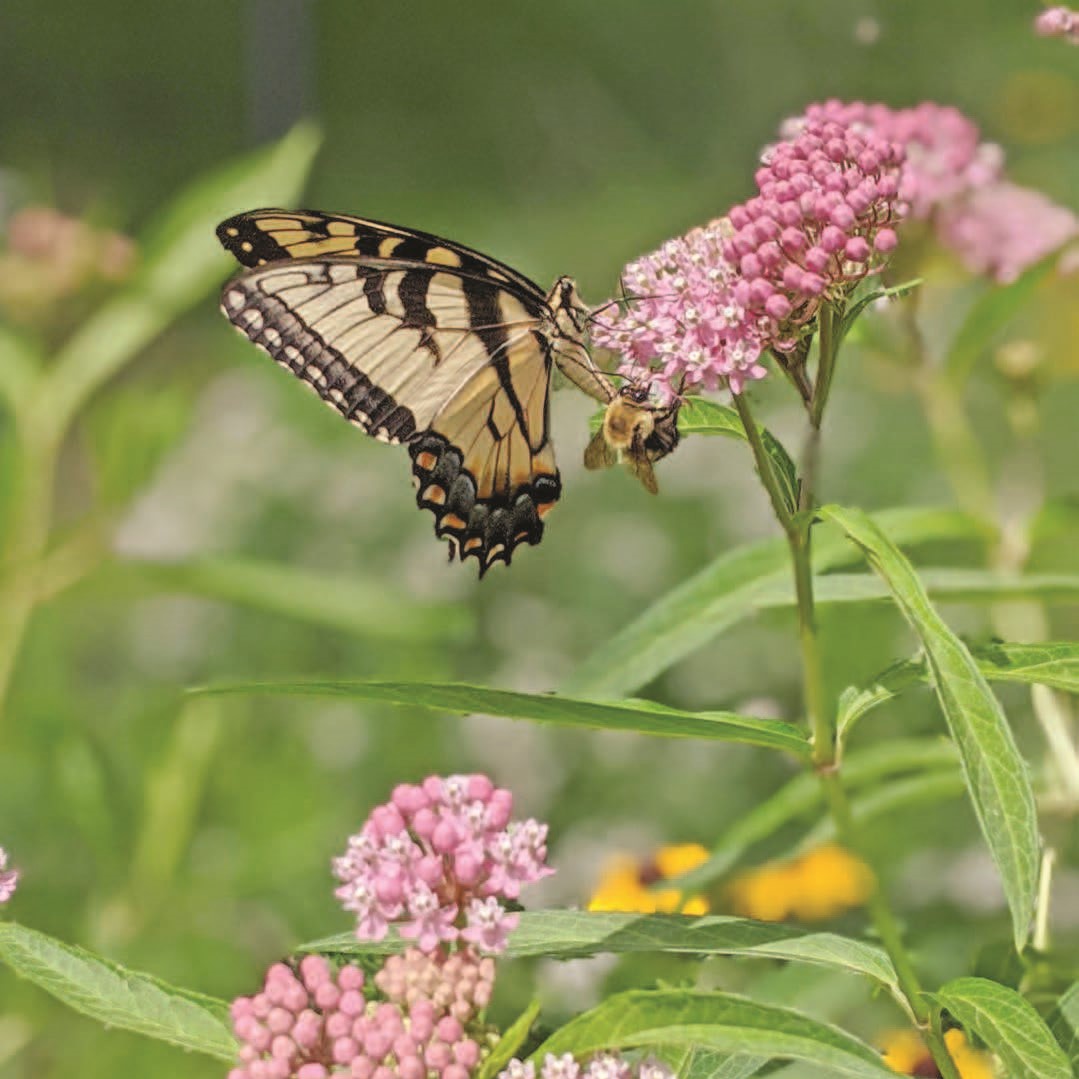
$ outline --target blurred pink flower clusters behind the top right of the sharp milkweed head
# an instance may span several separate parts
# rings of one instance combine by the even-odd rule
[[[1079,218],[1011,183],[1003,151],[983,141],[978,125],[958,109],[931,101],[892,109],[831,100],[809,106],[806,117],[861,126],[900,144],[900,195],[911,216],[930,221],[941,245],[972,273],[1007,284],[1079,238]]]

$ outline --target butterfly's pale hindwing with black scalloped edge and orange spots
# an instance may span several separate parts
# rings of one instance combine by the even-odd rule
[[[408,443],[418,503],[483,573],[540,542],[561,493],[533,290],[440,262],[303,257],[231,281],[222,310],[345,419]]]

